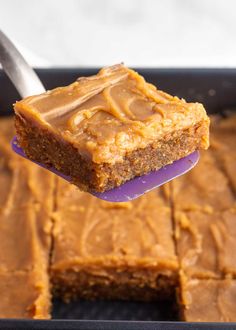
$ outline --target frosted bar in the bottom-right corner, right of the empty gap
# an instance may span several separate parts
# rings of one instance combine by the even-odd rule
[[[182,278],[182,317],[188,322],[236,322],[236,280]]]

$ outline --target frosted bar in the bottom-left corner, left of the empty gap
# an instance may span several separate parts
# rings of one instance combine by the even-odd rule
[[[0,318],[48,319],[48,280],[34,272],[0,272]]]

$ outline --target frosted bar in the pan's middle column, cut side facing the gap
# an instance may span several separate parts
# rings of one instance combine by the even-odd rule
[[[167,193],[168,186],[113,204],[59,180],[51,267],[56,293],[66,300],[173,294],[178,264]]]

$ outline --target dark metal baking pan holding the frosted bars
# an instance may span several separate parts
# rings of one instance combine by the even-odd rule
[[[186,100],[204,103],[208,113],[236,110],[236,69],[138,69],[158,88]],[[97,69],[39,69],[45,87],[51,89],[73,82]],[[12,103],[19,99],[14,86],[0,70],[0,114],[11,115]],[[1,299],[1,298],[0,298]],[[207,306],[206,306],[207,308]],[[235,311],[236,313],[236,311]],[[236,323],[181,323],[173,301],[121,302],[79,301],[53,303],[53,319],[0,320],[0,329],[236,329]]]

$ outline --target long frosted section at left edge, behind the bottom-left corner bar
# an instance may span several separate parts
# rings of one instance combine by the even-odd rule
[[[0,186],[4,189],[0,189],[0,271],[47,264],[51,242],[55,178],[14,154],[12,136],[13,120],[1,119]]]

